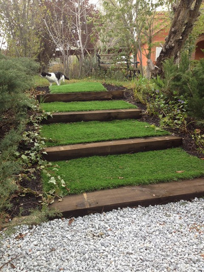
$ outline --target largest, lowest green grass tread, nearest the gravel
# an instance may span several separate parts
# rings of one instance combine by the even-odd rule
[[[59,166],[57,173],[52,171]],[[204,161],[190,156],[182,148],[134,154],[93,156],[53,162],[49,168],[64,179],[69,193],[81,194],[123,185],[139,185],[203,176]],[[182,173],[176,173],[182,171]],[[53,188],[48,177],[42,174],[45,191]]]

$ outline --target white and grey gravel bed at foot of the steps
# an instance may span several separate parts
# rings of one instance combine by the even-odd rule
[[[203,211],[194,199],[22,226],[3,238],[1,271],[204,271]]]

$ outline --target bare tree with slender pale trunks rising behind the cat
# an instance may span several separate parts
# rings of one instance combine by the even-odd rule
[[[80,52],[79,77],[82,73],[84,55],[93,33],[89,18],[93,5],[87,0],[60,0],[53,2],[53,14],[43,19],[46,29],[62,55],[64,72],[69,76],[70,49]]]

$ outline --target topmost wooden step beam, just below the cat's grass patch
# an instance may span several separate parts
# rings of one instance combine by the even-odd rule
[[[123,91],[108,91],[108,92],[82,92],[82,93],[37,95],[37,100],[39,102],[55,102],[55,101],[70,102],[70,101],[119,99],[123,97],[124,97]]]

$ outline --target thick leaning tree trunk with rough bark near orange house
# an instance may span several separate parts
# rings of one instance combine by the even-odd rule
[[[173,6],[174,18],[166,42],[157,58],[156,65],[159,69],[152,73],[163,75],[163,62],[173,57],[174,63],[178,61],[180,52],[184,47],[189,34],[192,32],[193,25],[199,16],[199,8],[202,0],[181,0],[176,6]]]

